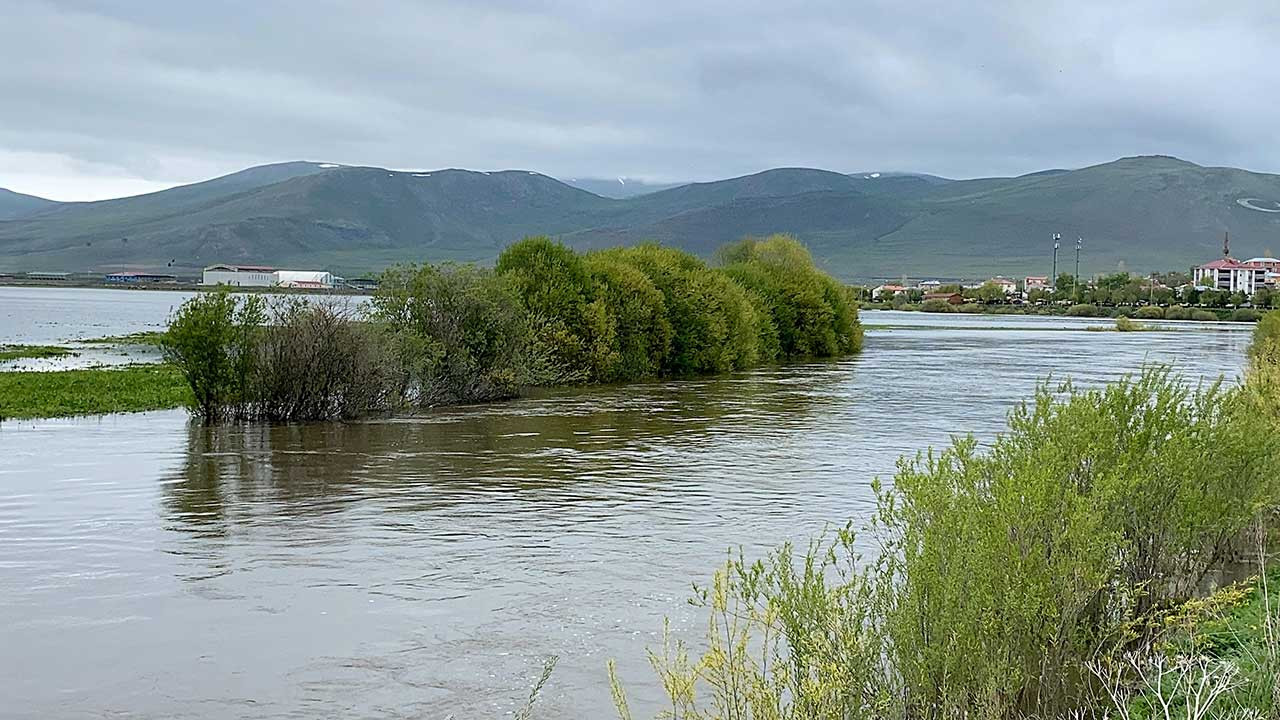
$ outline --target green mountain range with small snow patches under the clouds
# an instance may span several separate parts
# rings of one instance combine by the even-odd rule
[[[1074,269],[1083,237],[1089,274],[1187,269],[1219,255],[1225,232],[1236,255],[1280,250],[1280,176],[1169,156],[979,179],[777,168],[630,183],[634,195],[612,184],[628,181],[297,161],[97,202],[0,191],[0,270],[243,263],[357,274],[492,261],[526,234],[577,249],[657,241],[709,256],[748,234],[790,232],[849,281],[1050,274],[1053,233],[1064,238],[1059,269]]]

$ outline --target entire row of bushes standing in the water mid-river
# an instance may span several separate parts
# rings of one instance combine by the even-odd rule
[[[493,269],[388,270],[364,313],[201,295],[163,347],[206,420],[329,419],[513,397],[524,387],[740,370],[858,352],[854,293],[790,236],[714,265],[641,245],[579,254],[547,237]]]

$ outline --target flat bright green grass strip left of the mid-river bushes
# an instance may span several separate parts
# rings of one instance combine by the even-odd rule
[[[186,379],[172,365],[0,373],[0,419],[140,413],[189,400]]]

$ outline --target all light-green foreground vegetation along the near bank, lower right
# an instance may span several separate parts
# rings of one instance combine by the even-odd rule
[[[860,532],[731,557],[705,635],[652,652],[664,716],[1280,717],[1275,587],[1230,584],[1268,578],[1277,336],[1240,386],[1046,384],[989,447],[904,459]]]

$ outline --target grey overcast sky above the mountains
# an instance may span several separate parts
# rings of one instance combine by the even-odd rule
[[[0,187],[100,199],[298,159],[1280,170],[1280,3],[961,5],[0,0]]]

